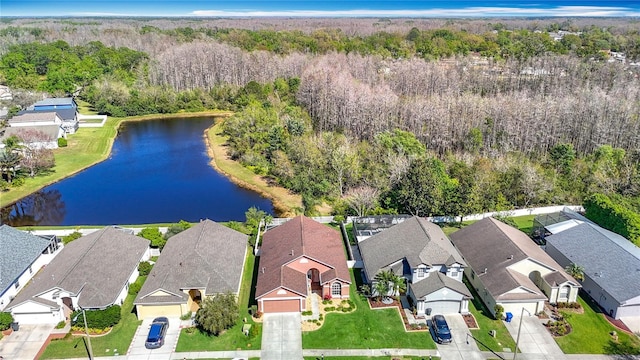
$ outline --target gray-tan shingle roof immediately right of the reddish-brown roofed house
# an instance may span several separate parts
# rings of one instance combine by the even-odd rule
[[[458,250],[440,227],[412,217],[358,243],[368,276],[406,259],[411,268],[420,264],[466,266]]]

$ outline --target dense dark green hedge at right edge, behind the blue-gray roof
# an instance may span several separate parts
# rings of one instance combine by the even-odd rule
[[[596,193],[585,200],[584,208],[589,220],[640,245],[640,214],[622,196]]]

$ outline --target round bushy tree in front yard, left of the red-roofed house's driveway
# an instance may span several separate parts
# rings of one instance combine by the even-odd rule
[[[228,292],[205,298],[196,313],[196,322],[202,330],[217,336],[235,325],[239,316],[236,296]]]

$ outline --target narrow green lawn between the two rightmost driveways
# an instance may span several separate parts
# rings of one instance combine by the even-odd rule
[[[513,351],[516,347],[515,341],[513,341],[513,338],[509,335],[509,331],[502,321],[493,319],[493,316],[484,303],[482,303],[475,289],[469,285],[466,279],[465,285],[467,285],[467,288],[471,291],[471,295],[473,295],[473,300],[469,304],[469,310],[476,318],[479,329],[471,330],[471,334],[475,338],[480,350],[502,352],[504,348],[509,348]],[[496,337],[489,334],[491,330],[496,331]]]

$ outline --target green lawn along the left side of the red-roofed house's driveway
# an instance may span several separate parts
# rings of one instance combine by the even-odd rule
[[[207,333],[196,330],[189,334],[183,329],[178,339],[176,352],[189,351],[218,351],[218,350],[258,350],[262,343],[262,323],[255,323],[249,315],[249,306],[254,302],[252,289],[255,289],[255,279],[258,265],[254,263],[256,257],[253,255],[252,248],[247,249],[247,261],[244,264],[244,272],[242,274],[242,286],[238,296],[238,304],[240,304],[240,317],[238,323],[231,329],[227,330],[219,336],[211,336]],[[242,333],[243,319],[253,324],[255,332],[249,337]]]

